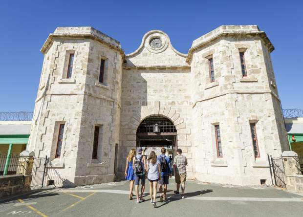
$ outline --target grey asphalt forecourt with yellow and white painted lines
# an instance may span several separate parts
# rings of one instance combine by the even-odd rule
[[[170,180],[173,183],[173,180]],[[147,186],[148,187],[148,186]],[[0,201],[0,216],[82,217],[302,217],[303,195],[273,187],[233,187],[187,182],[186,198],[173,195],[167,201],[139,204],[128,199],[128,182],[41,191]],[[146,189],[148,192],[149,189]]]

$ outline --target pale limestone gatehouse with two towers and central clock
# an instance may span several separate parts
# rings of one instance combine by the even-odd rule
[[[160,30],[137,50],[92,27],[58,27],[43,44],[28,151],[69,185],[123,178],[141,146],[181,148],[188,178],[271,184],[267,154],[288,150],[266,34],[223,25],[178,52]]]

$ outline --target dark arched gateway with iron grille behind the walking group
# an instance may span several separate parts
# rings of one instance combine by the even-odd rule
[[[159,130],[155,130],[158,125]],[[158,131],[158,132],[157,132]],[[142,147],[143,154],[151,151],[161,154],[161,147],[166,148],[167,156],[172,156],[176,146],[177,130],[171,120],[161,115],[153,115],[144,119],[136,132],[136,147]]]

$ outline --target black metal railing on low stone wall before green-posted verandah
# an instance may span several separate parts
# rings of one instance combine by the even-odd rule
[[[23,174],[25,172],[26,159],[20,155],[0,155],[0,176],[1,175],[14,175]]]

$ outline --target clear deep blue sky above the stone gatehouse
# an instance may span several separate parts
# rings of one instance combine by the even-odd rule
[[[1,0],[0,111],[33,111],[40,48],[57,26],[93,26],[120,41],[125,53],[160,29],[187,53],[193,40],[230,24],[257,24],[267,33],[282,107],[303,109],[302,0]]]

